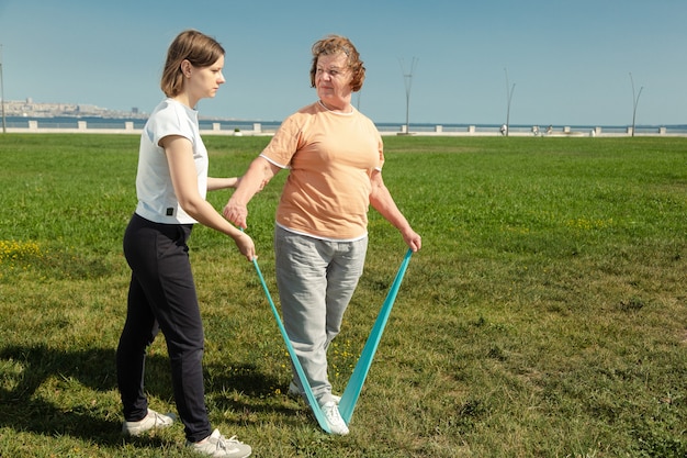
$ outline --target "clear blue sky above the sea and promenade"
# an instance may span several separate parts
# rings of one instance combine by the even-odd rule
[[[0,0],[7,100],[149,112],[167,46],[184,29],[227,51],[201,115],[280,121],[315,100],[313,42],[350,37],[375,122],[687,123],[687,1]],[[509,85],[506,85],[506,75]]]

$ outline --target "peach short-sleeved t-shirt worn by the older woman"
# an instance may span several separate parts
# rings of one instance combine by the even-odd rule
[[[370,177],[384,164],[382,137],[369,118],[313,103],[284,120],[260,156],[290,169],[277,224],[325,239],[367,235]]]

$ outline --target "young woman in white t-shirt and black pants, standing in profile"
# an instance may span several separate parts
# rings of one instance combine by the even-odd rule
[[[138,204],[124,234],[132,280],[116,366],[122,432],[139,435],[171,425],[173,415],[148,409],[144,392],[146,348],[161,331],[187,445],[213,457],[247,457],[250,447],[213,431],[207,417],[203,324],[187,246],[193,224],[201,223],[232,237],[248,260],[255,257],[252,239],[205,200],[206,191],[233,188],[239,181],[207,177],[207,150],[195,111],[201,99],[214,97],[225,82],[224,54],[219,43],[196,31],[182,32],[169,46],[161,79],[167,97],[140,137]]]

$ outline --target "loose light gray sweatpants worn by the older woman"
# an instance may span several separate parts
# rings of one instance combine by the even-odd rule
[[[274,233],[284,328],[320,405],[331,401],[327,348],[341,329],[344,312],[362,275],[367,249],[368,237],[330,242],[279,226]],[[303,393],[295,370],[293,373]]]

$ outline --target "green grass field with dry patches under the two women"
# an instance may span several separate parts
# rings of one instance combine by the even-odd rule
[[[206,137],[211,175],[266,137]],[[256,457],[687,456],[687,138],[386,137],[384,177],[423,235],[357,404],[328,436],[286,396],[289,359],[250,262],[205,227],[191,257],[213,425]],[[0,456],[187,457],[125,440],[114,351],[136,136],[0,136]],[[285,176],[249,206],[273,282]],[[222,208],[228,192],[210,196]],[[342,391],[405,253],[374,211],[330,349]],[[151,407],[174,411],[160,336]]]

